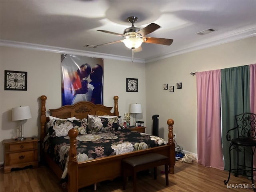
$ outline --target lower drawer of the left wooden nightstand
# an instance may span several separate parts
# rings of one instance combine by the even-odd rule
[[[9,154],[9,164],[20,164],[25,162],[34,161],[34,151],[26,151],[20,153],[10,153]]]

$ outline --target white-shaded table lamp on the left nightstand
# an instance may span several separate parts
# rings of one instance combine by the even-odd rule
[[[25,120],[30,118],[32,118],[32,115],[31,115],[29,106],[24,106],[24,107],[20,106],[20,107],[12,108],[12,120],[20,121],[19,136],[17,140],[22,141],[26,139],[22,134],[22,126],[25,123]]]

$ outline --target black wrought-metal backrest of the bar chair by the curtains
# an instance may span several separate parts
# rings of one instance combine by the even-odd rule
[[[238,137],[256,139],[256,114],[242,113],[235,116]]]

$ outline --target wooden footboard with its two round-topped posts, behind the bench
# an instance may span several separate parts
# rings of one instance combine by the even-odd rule
[[[168,143],[165,146],[149,148],[136,152],[109,156],[87,162],[76,161],[76,136],[78,131],[72,129],[68,132],[70,136],[70,150],[68,162],[68,192],[76,192],[79,188],[95,184],[104,180],[112,180],[122,175],[122,159],[141,154],[155,152],[169,157],[169,173],[174,174],[175,165],[175,144],[173,142],[173,124],[169,119],[168,124]],[[99,174],[100,173],[100,174]]]

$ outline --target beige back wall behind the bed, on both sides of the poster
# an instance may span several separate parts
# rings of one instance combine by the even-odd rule
[[[0,49],[0,162],[3,163],[2,140],[15,136],[16,122],[12,122],[12,108],[30,106],[32,119],[24,125],[24,136],[39,136],[40,127],[40,96],[46,95],[46,109],[61,106],[60,89],[60,54],[23,48],[1,46]],[[4,90],[4,70],[28,72],[28,90]],[[139,92],[126,92],[126,77],[138,78]],[[145,64],[104,60],[104,105],[114,106],[113,97],[119,96],[119,112],[123,115],[129,112],[130,103],[142,103],[144,115],[145,106]],[[138,118],[146,121],[144,116]]]

